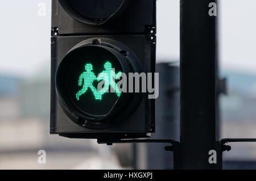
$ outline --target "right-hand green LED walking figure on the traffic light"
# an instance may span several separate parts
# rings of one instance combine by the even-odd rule
[[[111,86],[119,97],[122,92],[119,91],[117,83],[115,83],[115,79],[120,78],[122,72],[119,71],[117,74],[115,74],[115,71],[112,69],[112,64],[109,61],[104,64],[104,68],[106,70],[102,71],[102,73],[100,73],[97,78],[98,81],[105,81],[104,87],[99,91],[98,96],[100,96],[100,99],[102,99],[102,95],[105,94],[109,90],[109,86]]]

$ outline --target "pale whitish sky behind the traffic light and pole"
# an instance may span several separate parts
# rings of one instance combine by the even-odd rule
[[[46,16],[38,16],[39,2],[46,3]],[[219,5],[221,68],[256,73],[256,1]],[[179,60],[179,0],[158,0],[157,9],[157,60]],[[51,0],[3,1],[0,13],[0,74],[31,76],[47,68]]]

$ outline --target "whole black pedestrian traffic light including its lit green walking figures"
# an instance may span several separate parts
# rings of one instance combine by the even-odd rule
[[[119,139],[155,131],[150,93],[118,85],[134,82],[130,73],[155,73],[155,7],[155,0],[52,0],[52,134]]]

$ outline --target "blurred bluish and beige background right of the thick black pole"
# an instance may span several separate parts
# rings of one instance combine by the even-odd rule
[[[228,95],[221,98],[221,138],[256,137],[256,74],[223,72]],[[256,169],[256,143],[232,143],[223,155],[224,169]]]

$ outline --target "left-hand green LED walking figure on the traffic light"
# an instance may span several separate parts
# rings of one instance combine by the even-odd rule
[[[95,98],[98,100],[101,100],[101,95],[97,91],[97,89],[93,86],[93,82],[97,80],[93,70],[92,64],[86,64],[85,70],[79,77],[79,86],[82,86],[82,89],[77,92],[76,99],[79,100],[80,96],[82,94],[85,94],[85,92],[90,88],[93,91],[93,94]]]

